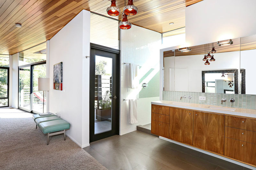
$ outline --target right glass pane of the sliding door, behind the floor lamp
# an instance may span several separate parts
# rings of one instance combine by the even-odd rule
[[[32,110],[36,112],[46,112],[46,93],[38,91],[38,78],[46,77],[46,64],[33,66],[33,92],[32,92]]]

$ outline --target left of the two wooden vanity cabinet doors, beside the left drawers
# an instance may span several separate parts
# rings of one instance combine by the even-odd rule
[[[170,138],[193,144],[193,111],[170,108]]]

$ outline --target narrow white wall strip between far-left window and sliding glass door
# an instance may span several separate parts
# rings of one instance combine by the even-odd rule
[[[10,84],[10,89],[12,92],[10,93],[11,103],[10,106],[14,108],[18,108],[18,70],[19,70],[19,53],[12,55],[12,66],[10,67],[10,74],[12,74],[12,82]]]

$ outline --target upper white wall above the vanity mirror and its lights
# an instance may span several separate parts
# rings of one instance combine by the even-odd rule
[[[204,0],[186,7],[187,46],[254,35],[255,6],[255,0]]]

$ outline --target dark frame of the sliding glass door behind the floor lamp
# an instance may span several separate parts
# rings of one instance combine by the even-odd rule
[[[33,93],[33,66],[42,65],[42,64],[46,64],[46,60],[40,61],[40,62],[36,62],[36,63],[26,64],[26,65],[21,65],[21,66],[18,67],[18,108],[21,109],[21,110],[24,110],[26,112],[36,113],[36,114],[40,113],[40,112],[32,110],[33,101],[31,99],[32,99],[32,93]],[[19,106],[19,104],[20,104],[19,103],[20,68],[23,68],[23,67],[30,67],[30,95],[29,95],[30,110],[25,109],[25,108]]]

